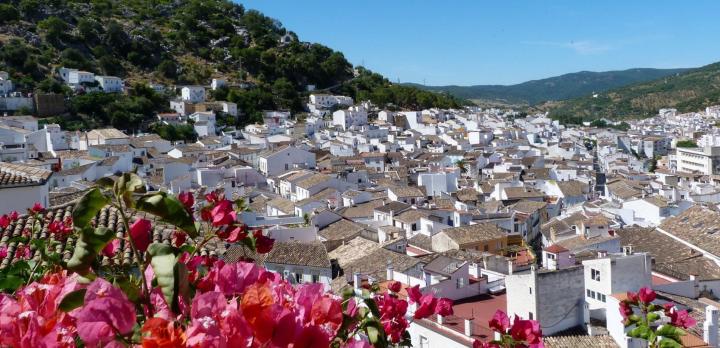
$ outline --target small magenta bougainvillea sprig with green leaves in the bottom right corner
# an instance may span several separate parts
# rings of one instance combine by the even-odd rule
[[[623,324],[629,329],[627,336],[643,339],[651,348],[682,347],[681,337],[695,326],[695,319],[672,303],[653,303],[656,297],[651,289],[642,288],[637,293],[628,292],[620,302]]]

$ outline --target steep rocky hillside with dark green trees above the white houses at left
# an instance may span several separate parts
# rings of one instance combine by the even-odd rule
[[[55,77],[61,66],[119,76],[133,87],[129,96],[71,96],[71,117],[59,121],[73,128],[134,129],[171,95],[140,85],[207,85],[213,77],[235,86],[212,97],[238,104],[244,115],[237,125],[260,120],[262,110],[301,111],[308,85],[381,106],[459,104],[353,67],[341,52],[302,42],[277,20],[228,0],[3,1],[0,70],[20,91],[70,95]]]

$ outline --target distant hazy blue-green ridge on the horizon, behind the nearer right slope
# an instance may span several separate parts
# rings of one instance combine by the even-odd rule
[[[620,71],[581,71],[516,85],[422,86],[435,92],[446,92],[458,98],[484,104],[535,105],[550,100],[564,100],[604,92],[639,82],[675,75],[688,69],[628,69]]]

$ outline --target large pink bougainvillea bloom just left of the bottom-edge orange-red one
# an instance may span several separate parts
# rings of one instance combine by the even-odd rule
[[[135,306],[118,288],[95,279],[85,293],[85,304],[74,315],[78,335],[88,346],[106,345],[116,334],[125,335],[135,325]]]

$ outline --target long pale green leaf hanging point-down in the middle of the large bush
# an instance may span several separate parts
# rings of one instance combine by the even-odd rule
[[[177,295],[181,292],[182,287],[187,286],[187,270],[183,272],[182,267],[179,266],[184,266],[184,264],[177,262],[175,250],[167,244],[150,244],[148,254],[151,257],[150,264],[153,267],[155,279],[162,290],[165,301],[173,308],[177,308]]]

